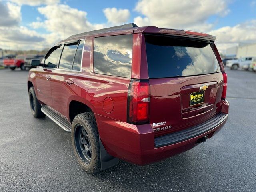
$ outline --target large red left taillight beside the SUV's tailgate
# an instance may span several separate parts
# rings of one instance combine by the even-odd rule
[[[127,122],[145,124],[149,122],[150,87],[148,80],[132,79],[128,89]]]

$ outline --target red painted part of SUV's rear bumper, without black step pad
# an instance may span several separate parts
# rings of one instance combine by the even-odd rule
[[[199,138],[206,135],[210,138],[226,123],[225,121],[214,129],[192,139],[155,148],[154,132],[150,124],[132,125],[99,115],[96,115],[96,120],[101,134],[100,138],[104,136],[102,141],[108,153],[140,166],[189,150],[197,145],[196,141]],[[113,133],[115,134],[114,136]]]

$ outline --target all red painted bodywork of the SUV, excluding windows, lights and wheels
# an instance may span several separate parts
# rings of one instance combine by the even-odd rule
[[[222,72],[200,76],[149,79],[150,122],[142,125],[129,124],[127,122],[127,97],[131,78],[96,74],[93,66],[93,45],[94,38],[98,36],[132,33],[134,35],[131,78],[134,79],[149,79],[144,33],[215,40],[215,37],[210,35],[157,27],[126,28],[79,36],[72,39],[86,39],[81,72],[33,68],[29,72],[28,81],[34,85],[40,103],[54,108],[70,122],[70,102],[78,101],[88,106],[95,114],[100,139],[106,151],[114,157],[144,165],[189,150],[196,146],[198,138],[205,135],[210,138],[222,128],[226,121],[192,139],[160,148],[155,148],[154,145],[154,139],[157,136],[200,124],[219,112],[228,113],[229,104],[226,100],[221,100],[224,84]],[[214,44],[212,48],[218,58],[218,50]],[[221,59],[218,58],[218,61],[224,71]],[[47,76],[50,78],[47,79]],[[72,80],[73,84],[68,85],[66,80]],[[206,83],[209,85],[206,90],[206,102],[202,106],[189,106],[186,103],[188,94],[198,91],[199,87]],[[166,125],[172,125],[172,129],[154,132],[153,122],[162,121],[166,121]]]

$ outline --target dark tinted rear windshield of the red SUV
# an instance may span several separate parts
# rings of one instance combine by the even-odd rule
[[[145,35],[149,78],[220,72],[209,42]]]

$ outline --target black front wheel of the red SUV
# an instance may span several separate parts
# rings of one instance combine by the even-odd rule
[[[30,101],[30,108],[31,108],[32,115],[35,118],[44,117],[45,114],[41,111],[41,104],[38,102],[36,98],[34,87],[30,87],[28,94],[29,94],[29,101]]]

